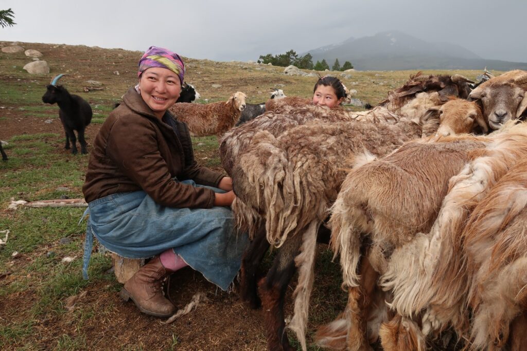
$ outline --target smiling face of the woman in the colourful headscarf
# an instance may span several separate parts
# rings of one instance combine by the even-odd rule
[[[144,102],[159,119],[177,101],[181,93],[178,75],[162,67],[146,69],[139,79],[139,88]]]

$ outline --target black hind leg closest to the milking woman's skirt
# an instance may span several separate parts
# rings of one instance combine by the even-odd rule
[[[257,291],[257,279],[261,276],[260,263],[268,248],[269,242],[266,238],[264,223],[258,228],[255,238],[241,259],[240,297],[252,309],[261,306]]]

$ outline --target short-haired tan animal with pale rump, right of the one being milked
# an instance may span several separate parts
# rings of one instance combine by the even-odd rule
[[[512,139],[509,144],[509,147],[513,145],[512,149],[519,148],[527,140],[524,126],[513,127],[511,131],[512,134],[515,133],[513,137],[512,134],[500,134],[501,136],[496,137],[464,135],[408,143],[396,153],[355,168],[348,175],[333,207],[330,221],[333,232],[331,239],[336,253],[340,252],[344,285],[349,289],[346,312],[350,326],[348,349],[367,347],[361,317],[364,312],[361,310],[367,310],[369,303],[367,299],[361,304],[358,302],[366,297],[364,292],[376,289],[376,279],[369,279],[372,286],[362,286],[357,274],[361,256],[361,233],[369,235],[372,241],[363,261],[369,262],[377,274],[385,273],[389,267],[389,256],[394,249],[412,242],[419,232],[427,233],[432,228],[448,190],[448,179],[461,171],[466,162],[484,153],[487,145],[489,149],[486,152],[492,154],[496,140],[506,144],[509,138]],[[407,251],[401,251],[401,254],[408,257]],[[411,256],[408,259],[411,260]],[[414,267],[401,266],[407,270]],[[411,282],[418,280],[416,277],[409,279]],[[410,314],[408,317],[412,316]],[[411,324],[412,320],[406,320],[405,323]],[[328,327],[326,329],[330,330]],[[404,329],[409,331],[412,327]],[[400,340],[403,339],[405,338]],[[386,335],[383,344],[385,341],[389,344]],[[419,345],[424,347],[424,340]],[[401,347],[399,349],[410,346]]]

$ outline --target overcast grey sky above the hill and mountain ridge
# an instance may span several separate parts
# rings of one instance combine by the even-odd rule
[[[527,62],[524,0],[0,0],[7,8],[16,25],[0,28],[0,41],[156,45],[191,58],[256,61],[396,30],[485,59]]]

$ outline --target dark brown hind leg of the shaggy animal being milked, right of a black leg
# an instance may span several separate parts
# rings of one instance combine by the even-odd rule
[[[289,345],[284,321],[284,299],[287,286],[296,272],[295,257],[302,235],[288,237],[280,247],[269,273],[259,282],[259,293],[266,325],[267,348],[271,351],[294,350]]]

